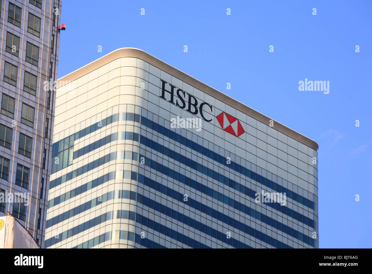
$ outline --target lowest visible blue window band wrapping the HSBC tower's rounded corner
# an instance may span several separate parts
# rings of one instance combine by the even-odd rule
[[[116,230],[116,232],[117,231],[120,231],[120,239],[124,239],[125,236],[122,238],[122,235],[127,234],[128,240],[131,240],[133,242],[136,240],[136,243],[138,243],[141,246],[144,246],[146,248],[166,248],[165,246],[160,245],[158,243],[155,243],[152,240],[141,239],[141,235],[139,235],[139,234],[134,234],[133,232],[128,232],[126,230]],[[104,243],[106,241],[111,240],[111,234],[112,234],[112,232],[110,232],[110,231],[109,232],[106,232],[106,233],[103,233],[103,234],[101,234],[101,235],[99,235],[99,236],[97,236],[97,237],[94,238],[94,239],[97,239],[98,238],[98,240],[96,242],[94,241],[94,239],[91,239],[91,240],[88,240],[88,241],[86,241],[84,243],[81,243],[78,246],[74,246],[73,248],[92,248],[94,246],[99,245],[100,243]],[[137,239],[140,239],[140,241],[137,242]],[[84,247],[84,245],[86,247]]]

